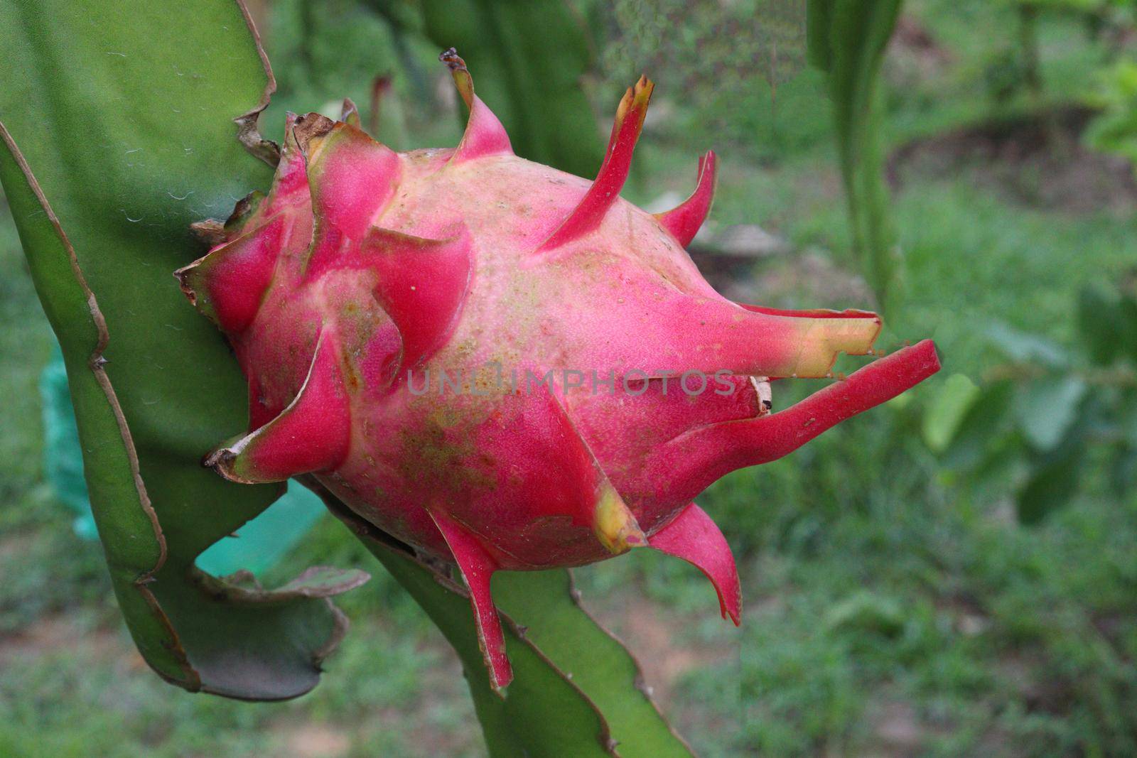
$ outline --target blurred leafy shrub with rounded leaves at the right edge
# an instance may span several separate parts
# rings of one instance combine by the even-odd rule
[[[1078,494],[1088,460],[1101,459],[1118,498],[1137,486],[1137,298],[1098,286],[1078,298],[1073,350],[995,322],[987,328],[1006,363],[987,367],[982,389],[955,374],[924,416],[928,447],[944,473],[1011,489],[1019,520],[1036,524]]]

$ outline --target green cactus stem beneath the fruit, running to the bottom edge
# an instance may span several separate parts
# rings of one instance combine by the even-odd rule
[[[305,478],[426,611],[462,659],[490,755],[688,757],[640,688],[626,649],[578,605],[565,569],[499,572],[493,599],[503,611],[514,680],[495,693],[464,586],[414,558],[358,518],[314,480]]]

